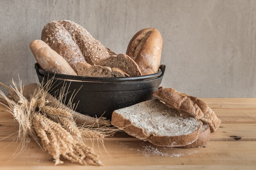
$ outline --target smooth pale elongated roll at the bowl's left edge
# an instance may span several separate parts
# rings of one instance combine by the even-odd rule
[[[75,71],[56,51],[52,50],[45,42],[34,40],[30,43],[30,49],[36,61],[46,71],[54,73],[76,75]]]

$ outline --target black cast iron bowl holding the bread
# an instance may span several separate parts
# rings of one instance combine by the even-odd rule
[[[72,103],[77,104],[76,111],[90,116],[101,116],[111,119],[113,110],[124,108],[152,99],[153,93],[162,82],[165,65],[151,75],[138,77],[82,77],[47,72],[35,64],[40,83],[53,78],[49,93],[55,97],[63,86],[67,93],[64,104],[74,96]],[[65,80],[64,80],[65,79]],[[76,81],[79,80],[79,81]],[[76,93],[77,92],[77,93]]]

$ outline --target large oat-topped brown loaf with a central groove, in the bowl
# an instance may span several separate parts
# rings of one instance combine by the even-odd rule
[[[78,62],[95,61],[115,54],[95,40],[82,26],[69,20],[52,21],[43,28],[41,39],[77,70]]]

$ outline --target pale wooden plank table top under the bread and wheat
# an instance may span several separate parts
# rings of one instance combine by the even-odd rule
[[[105,166],[81,166],[65,161],[54,166],[51,156],[31,141],[27,149],[10,160],[18,142],[12,135],[18,124],[0,105],[0,170],[2,169],[176,169],[176,170],[256,170],[256,99],[255,98],[203,98],[221,119],[217,132],[211,133],[209,144],[189,149],[157,147],[149,142],[119,132],[106,138],[103,146],[94,149],[101,155]],[[235,140],[234,137],[240,137]],[[92,141],[88,141],[88,145]]]

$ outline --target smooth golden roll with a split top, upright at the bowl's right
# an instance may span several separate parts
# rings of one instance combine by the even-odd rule
[[[130,40],[126,54],[134,60],[142,75],[157,73],[162,51],[162,36],[154,28],[142,29]]]

